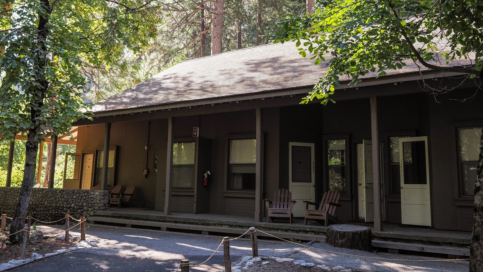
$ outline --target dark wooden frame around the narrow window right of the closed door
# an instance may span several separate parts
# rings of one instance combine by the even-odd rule
[[[348,134],[343,134],[343,135],[325,135],[322,136],[322,181],[323,181],[323,187],[324,191],[330,190],[330,184],[329,184],[329,165],[328,165],[328,148],[327,148],[327,140],[345,140],[345,191],[339,192],[341,195],[351,195],[352,194],[352,177],[351,177],[351,153],[350,153],[350,136]]]

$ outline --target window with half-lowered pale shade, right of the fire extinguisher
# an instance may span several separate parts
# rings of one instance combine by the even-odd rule
[[[228,190],[255,190],[256,139],[230,139]]]

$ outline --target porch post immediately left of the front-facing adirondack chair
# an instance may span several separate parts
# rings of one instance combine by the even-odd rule
[[[263,133],[262,109],[256,108],[255,222],[263,221]]]

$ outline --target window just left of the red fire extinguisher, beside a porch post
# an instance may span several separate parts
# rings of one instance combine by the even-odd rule
[[[173,143],[173,188],[191,189],[195,179],[195,142]]]

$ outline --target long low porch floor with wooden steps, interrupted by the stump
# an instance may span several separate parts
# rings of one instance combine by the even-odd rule
[[[325,241],[327,227],[315,221],[304,225],[303,218],[294,218],[292,224],[283,220],[270,220],[267,223],[264,219],[263,222],[255,222],[254,217],[213,213],[172,212],[165,215],[149,208],[123,208],[98,211],[89,217],[89,223],[231,236],[238,236],[249,227],[256,227],[283,239]],[[380,251],[436,257],[469,256],[470,232],[387,223],[384,224],[384,231],[377,231],[362,221],[344,223],[371,227],[372,245]],[[275,239],[262,233],[258,235],[261,239]]]

